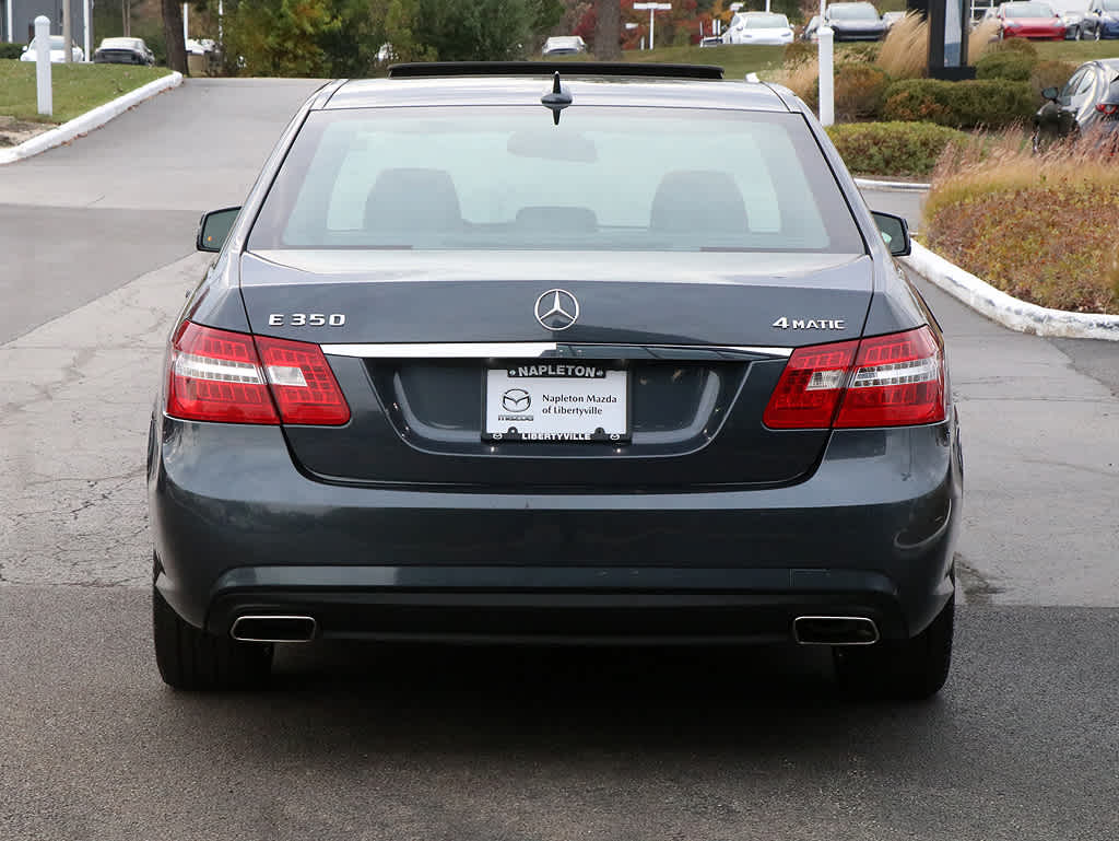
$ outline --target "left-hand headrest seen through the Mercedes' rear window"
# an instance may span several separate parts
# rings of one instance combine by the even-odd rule
[[[426,231],[462,227],[454,181],[445,169],[386,169],[365,203],[366,231]]]

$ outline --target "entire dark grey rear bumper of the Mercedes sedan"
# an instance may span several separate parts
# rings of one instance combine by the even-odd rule
[[[955,424],[833,434],[810,478],[696,493],[352,487],[278,428],[160,419],[157,586],[191,624],[305,614],[327,637],[788,639],[805,614],[922,630],[952,594]]]

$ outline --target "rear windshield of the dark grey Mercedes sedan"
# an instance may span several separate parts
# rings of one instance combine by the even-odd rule
[[[248,247],[865,252],[799,114],[540,105],[311,112]]]

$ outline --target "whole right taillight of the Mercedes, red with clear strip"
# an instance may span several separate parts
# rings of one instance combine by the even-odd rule
[[[944,419],[943,351],[928,327],[797,348],[763,421],[771,429],[903,427]]]

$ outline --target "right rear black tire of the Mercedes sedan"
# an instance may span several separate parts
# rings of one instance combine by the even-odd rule
[[[953,597],[932,624],[912,639],[833,648],[840,683],[882,698],[906,701],[932,698],[948,680],[955,617]]]

